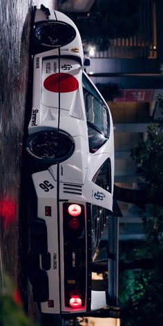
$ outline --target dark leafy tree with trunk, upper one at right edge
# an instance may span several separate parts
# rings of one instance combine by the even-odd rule
[[[160,99],[163,112],[163,99]],[[163,116],[151,123],[147,129],[146,141],[138,142],[131,150],[131,157],[137,164],[138,189],[124,189],[115,185],[114,197],[143,207],[144,204],[163,206]],[[157,218],[156,218],[157,220]],[[144,220],[145,222],[145,220]]]

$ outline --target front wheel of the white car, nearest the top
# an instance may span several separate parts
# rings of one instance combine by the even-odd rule
[[[33,28],[32,40],[44,48],[59,48],[75,39],[73,26],[62,21],[41,21]]]

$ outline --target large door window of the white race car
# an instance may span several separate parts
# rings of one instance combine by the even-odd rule
[[[95,153],[109,137],[109,115],[106,104],[84,74],[82,81],[89,149],[90,153]]]

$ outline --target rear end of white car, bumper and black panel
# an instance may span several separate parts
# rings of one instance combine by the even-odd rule
[[[58,199],[57,182],[54,179],[50,180],[48,171],[35,173],[34,184],[36,175],[38,184],[38,174],[43,174],[44,178],[46,177],[52,183],[54,189],[48,193],[45,192],[43,196],[43,189],[39,187],[41,193],[38,193],[37,186],[35,186],[37,217],[30,223],[28,256],[28,275],[33,288],[33,299],[41,303],[41,312],[46,314],[76,314],[89,311],[91,294],[90,205],[78,201],[78,204],[83,207],[82,236],[76,232],[70,233],[67,224],[68,217],[64,212],[64,207],[68,206],[68,200]],[[77,293],[76,291],[79,291],[82,305],[78,309],[73,309],[69,305],[70,294]]]

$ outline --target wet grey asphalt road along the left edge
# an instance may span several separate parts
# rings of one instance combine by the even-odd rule
[[[24,224],[21,226],[22,207],[21,213],[19,209],[30,22],[33,5],[39,8],[44,3],[54,9],[55,1],[0,0],[0,3],[0,291],[7,272],[15,290],[21,289],[26,309],[32,315],[35,307],[31,306],[30,289],[23,275],[26,246],[21,239],[26,239],[26,229]]]

